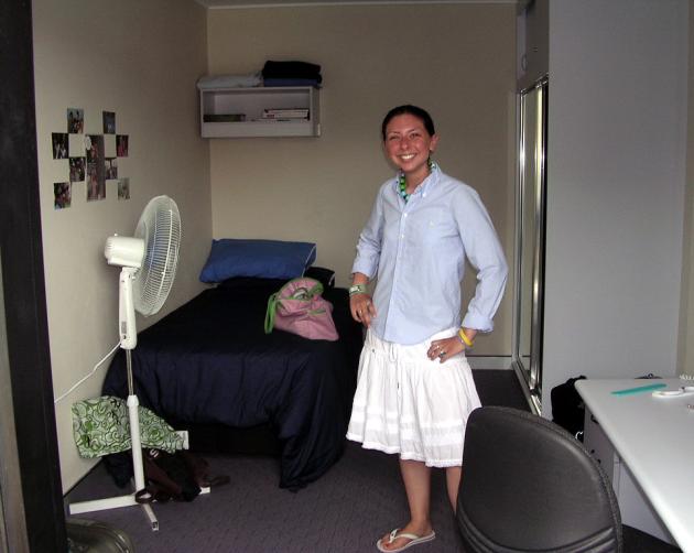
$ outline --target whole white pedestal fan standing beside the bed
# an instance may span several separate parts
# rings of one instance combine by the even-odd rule
[[[176,203],[167,196],[156,196],[147,205],[134,237],[111,236],[106,240],[104,254],[109,264],[122,267],[119,280],[118,332],[120,347],[126,350],[128,371],[128,418],[132,445],[134,491],[132,494],[83,501],[69,506],[71,514],[140,505],[152,530],[159,522],[148,503],[138,503],[135,492],[143,489],[144,468],[140,441],[140,402],[134,391],[131,351],[138,343],[135,310],[144,316],[156,313],[173,284],[181,245],[181,216]]]

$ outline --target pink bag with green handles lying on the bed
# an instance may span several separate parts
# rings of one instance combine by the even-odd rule
[[[300,276],[284,284],[268,300],[265,334],[272,328],[318,340],[338,339],[333,322],[333,304],[325,300],[323,284]]]

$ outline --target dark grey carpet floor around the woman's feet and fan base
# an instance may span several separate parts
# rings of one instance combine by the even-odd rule
[[[482,404],[527,409],[512,371],[475,371]],[[278,460],[268,456],[205,455],[210,474],[231,481],[192,502],[154,503],[160,531],[140,507],[80,514],[123,530],[141,553],[299,553],[377,551],[376,540],[406,523],[408,503],[398,458],[348,442],[340,460],[317,481],[291,492],[278,487]],[[65,498],[75,501],[122,495],[97,465]],[[432,522],[436,540],[422,553],[464,552],[445,489],[432,477]]]

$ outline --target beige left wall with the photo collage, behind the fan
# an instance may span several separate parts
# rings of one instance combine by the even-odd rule
[[[117,344],[118,274],[104,259],[107,236],[130,236],[147,202],[166,194],[178,204],[183,243],[173,291],[161,314],[200,289],[197,274],[212,237],[208,144],[199,138],[196,79],[206,73],[205,10],[166,0],[35,0],[34,56],[41,210],[51,361],[59,397]],[[68,180],[66,160],[53,160],[51,133],[66,131],[66,109],[83,108],[85,132],[102,132],[101,111],[115,111],[129,135],[119,176],[131,199],[119,202],[107,182],[105,200],[86,202],[73,185],[73,205],[53,207],[53,183]],[[138,317],[140,328],[152,323]],[[106,364],[107,365],[107,364]],[[56,404],[64,489],[91,462],[72,437],[71,405],[98,397],[106,365]]]

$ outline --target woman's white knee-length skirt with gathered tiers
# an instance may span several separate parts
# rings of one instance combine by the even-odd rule
[[[413,346],[367,332],[347,438],[430,467],[462,465],[467,418],[480,406],[470,366],[464,353],[444,364],[426,356],[433,339],[456,332]]]

